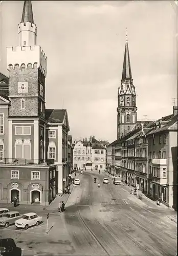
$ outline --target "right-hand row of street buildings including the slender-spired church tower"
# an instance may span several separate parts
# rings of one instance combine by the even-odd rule
[[[137,120],[127,40],[117,112],[117,140],[107,146],[107,171],[177,209],[177,106],[156,121]]]

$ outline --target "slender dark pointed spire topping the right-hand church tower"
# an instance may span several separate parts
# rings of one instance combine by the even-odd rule
[[[130,57],[129,57],[129,51],[128,51],[127,32],[126,32],[126,42],[125,42],[124,63],[123,63],[123,70],[122,70],[122,80],[126,80],[126,79],[132,79]]]

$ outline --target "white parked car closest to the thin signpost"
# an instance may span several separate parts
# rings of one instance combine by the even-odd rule
[[[28,229],[30,226],[38,226],[41,223],[42,217],[38,216],[34,212],[23,215],[21,219],[15,221],[15,226],[17,228]]]

